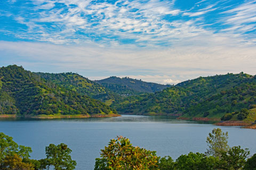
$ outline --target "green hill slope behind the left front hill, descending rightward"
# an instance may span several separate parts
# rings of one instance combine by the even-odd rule
[[[52,81],[59,86],[76,91],[110,105],[112,101],[121,98],[118,94],[76,73],[36,73],[40,77]]]

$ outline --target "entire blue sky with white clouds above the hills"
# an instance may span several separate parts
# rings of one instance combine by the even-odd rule
[[[256,74],[256,1],[1,0],[0,66],[161,84]]]

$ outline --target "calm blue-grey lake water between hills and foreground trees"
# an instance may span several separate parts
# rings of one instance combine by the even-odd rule
[[[19,145],[32,148],[31,158],[45,158],[45,146],[65,143],[73,150],[76,169],[94,168],[95,158],[110,139],[122,135],[133,146],[157,151],[158,156],[205,152],[206,137],[214,128],[229,133],[229,146],[249,148],[256,153],[256,130],[237,126],[215,126],[174,120],[170,117],[123,115],[110,118],[61,120],[0,120],[0,132],[13,137]]]

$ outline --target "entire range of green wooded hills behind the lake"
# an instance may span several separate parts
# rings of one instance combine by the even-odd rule
[[[256,120],[256,76],[228,73],[164,86],[130,78],[91,81],[77,73],[32,73],[16,65],[0,69],[1,114],[116,111],[252,123]]]

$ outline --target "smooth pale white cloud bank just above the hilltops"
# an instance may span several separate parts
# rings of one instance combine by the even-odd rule
[[[7,60],[10,64],[23,65],[28,70],[71,71],[91,79],[116,75],[158,83],[171,79],[175,83],[228,72],[255,74],[254,46],[231,46],[232,40],[219,37],[205,42],[205,46],[196,45],[196,41],[193,46],[176,44],[156,49],[99,47],[93,43],[77,46],[0,41],[0,54],[10,58]]]

